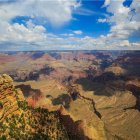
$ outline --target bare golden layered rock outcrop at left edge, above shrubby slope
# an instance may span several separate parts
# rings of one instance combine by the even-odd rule
[[[17,94],[18,90],[13,87],[13,80],[8,75],[0,76],[0,122],[2,122],[11,112],[18,110]],[[22,97],[21,97],[22,99]]]

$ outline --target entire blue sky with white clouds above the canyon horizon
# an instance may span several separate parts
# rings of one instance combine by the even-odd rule
[[[0,51],[140,50],[140,0],[0,0]]]

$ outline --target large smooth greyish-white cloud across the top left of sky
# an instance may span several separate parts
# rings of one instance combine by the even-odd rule
[[[76,0],[17,0],[1,4],[0,17],[6,21],[16,16],[44,17],[59,26],[72,19],[72,11],[78,6]]]

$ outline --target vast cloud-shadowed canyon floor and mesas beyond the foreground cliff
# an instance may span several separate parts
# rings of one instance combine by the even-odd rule
[[[1,52],[28,104],[63,105],[85,136],[140,139],[140,51]]]

